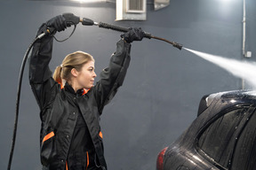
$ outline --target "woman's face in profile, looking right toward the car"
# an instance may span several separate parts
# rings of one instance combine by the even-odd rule
[[[93,87],[94,78],[96,77],[96,73],[94,72],[94,62],[89,61],[84,64],[82,69],[77,72],[76,82],[77,89],[90,89]]]

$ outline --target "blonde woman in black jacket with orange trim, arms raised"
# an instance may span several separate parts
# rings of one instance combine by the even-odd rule
[[[37,35],[47,27],[63,31],[67,27],[65,18],[50,19]],[[48,65],[53,36],[47,35],[36,42],[29,60],[29,81],[40,107],[43,169],[107,169],[100,115],[123,84],[130,63],[130,43],[142,40],[143,36],[140,28],[121,35],[123,38],[116,43],[108,68],[100,73],[100,81],[95,85],[94,59],[90,54],[83,51],[68,54],[52,77]]]

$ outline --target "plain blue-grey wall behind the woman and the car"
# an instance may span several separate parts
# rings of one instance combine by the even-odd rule
[[[20,64],[37,28],[44,21],[73,12],[98,22],[142,27],[152,35],[180,42],[188,49],[250,61],[255,60],[256,54],[256,1],[247,0],[246,6],[246,50],[252,51],[249,59],[242,55],[242,0],[171,0],[168,7],[159,11],[154,11],[153,0],[150,0],[146,21],[115,21],[116,4],[113,2],[2,0],[0,169],[7,167],[11,149]],[[56,36],[63,39],[71,30]],[[108,66],[119,39],[118,32],[78,25],[68,41],[54,42],[51,68],[60,65],[68,53],[84,50],[95,58],[96,73],[100,74]],[[201,97],[241,89],[241,84],[241,79],[187,50],[178,50],[157,40],[133,42],[132,62],[124,86],[101,117],[108,168],[156,169],[158,152],[177,139],[196,118]],[[41,169],[39,130],[39,109],[28,84],[27,65],[12,169]]]

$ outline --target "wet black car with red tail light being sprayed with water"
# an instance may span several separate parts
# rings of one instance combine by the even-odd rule
[[[256,91],[202,97],[196,120],[160,151],[156,170],[256,170]]]

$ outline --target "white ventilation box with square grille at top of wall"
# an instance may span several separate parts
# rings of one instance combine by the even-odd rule
[[[116,20],[146,20],[147,0],[116,0]]]

